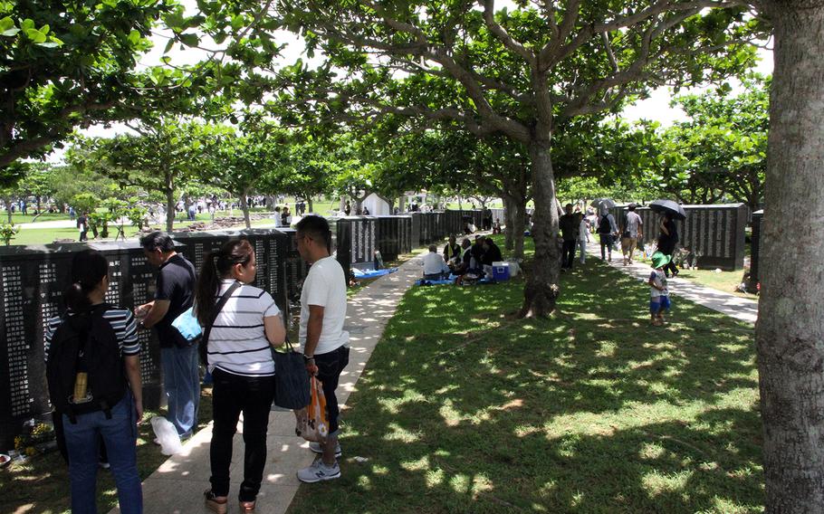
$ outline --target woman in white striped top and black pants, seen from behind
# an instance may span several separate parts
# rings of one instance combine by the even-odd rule
[[[229,465],[237,420],[244,414],[244,481],[238,499],[241,512],[254,510],[266,463],[266,431],[274,399],[274,361],[270,347],[283,344],[285,330],[281,311],[272,296],[248,285],[254,281],[254,248],[248,241],[233,240],[206,257],[195,293],[196,315],[206,327],[215,323],[207,341],[208,368],[215,380],[212,389],[210,461],[212,484],[206,490],[206,506],[224,514],[229,494]],[[220,312],[217,303],[235,282]]]

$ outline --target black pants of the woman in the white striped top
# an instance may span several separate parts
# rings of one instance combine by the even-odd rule
[[[237,376],[216,369],[212,374],[212,492],[229,494],[229,465],[232,463],[232,439],[237,420],[244,413],[244,481],[238,495],[241,501],[254,501],[263,481],[266,464],[266,431],[274,399],[274,376]]]

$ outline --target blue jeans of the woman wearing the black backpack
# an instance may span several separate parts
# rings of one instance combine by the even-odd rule
[[[72,424],[63,414],[63,431],[69,450],[69,476],[72,481],[72,513],[97,514],[97,469],[101,437],[109,453],[111,474],[118,488],[123,514],[143,512],[137,462],[137,413],[131,392],[111,409],[111,419],[103,412],[81,414]]]

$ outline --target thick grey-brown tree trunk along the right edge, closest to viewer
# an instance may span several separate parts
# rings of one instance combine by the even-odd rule
[[[824,2],[765,1],[775,71],[755,331],[765,511],[824,512]]]

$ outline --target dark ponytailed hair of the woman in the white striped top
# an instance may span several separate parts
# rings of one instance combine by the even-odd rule
[[[235,264],[245,266],[253,255],[254,248],[245,239],[229,240],[220,250],[206,254],[195,288],[195,314],[202,327],[206,327],[215,316],[215,297],[220,290],[221,279],[231,278]]]

